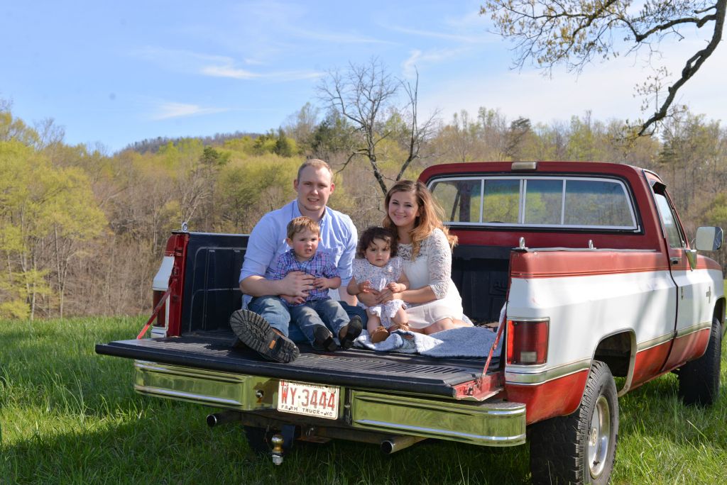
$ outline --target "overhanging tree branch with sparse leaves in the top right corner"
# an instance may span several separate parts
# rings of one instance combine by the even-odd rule
[[[564,64],[579,73],[590,62],[618,57],[622,50],[648,49],[654,60],[663,40],[679,41],[694,28],[710,30],[710,40],[686,60],[680,76],[670,78],[661,66],[638,88],[646,98],[644,111],[649,97],[656,99],[656,110],[632,127],[642,136],[678,109],[673,105],[677,92],[722,40],[726,7],[727,0],[487,0],[480,12],[490,14],[500,35],[515,42],[515,66],[533,62],[549,72]]]

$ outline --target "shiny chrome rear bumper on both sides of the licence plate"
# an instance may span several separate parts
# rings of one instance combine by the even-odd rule
[[[134,361],[141,394],[242,412],[276,409],[278,379]],[[525,442],[525,404],[463,402],[430,396],[342,388],[336,423],[361,431],[422,436],[491,447]],[[286,415],[277,413],[281,420]]]

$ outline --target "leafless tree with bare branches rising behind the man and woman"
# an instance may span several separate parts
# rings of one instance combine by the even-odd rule
[[[352,160],[363,157],[369,161],[382,193],[387,192],[385,176],[379,163],[379,144],[397,136],[385,123],[387,114],[403,113],[406,134],[406,159],[395,180],[401,179],[406,168],[420,157],[422,145],[432,134],[437,113],[420,121],[418,113],[419,73],[413,83],[395,78],[377,58],[364,65],[350,63],[345,71],[334,70],[318,85],[318,96],[329,110],[342,117],[357,135],[343,168]],[[401,97],[406,100],[398,107]],[[342,168],[342,169],[343,169]]]

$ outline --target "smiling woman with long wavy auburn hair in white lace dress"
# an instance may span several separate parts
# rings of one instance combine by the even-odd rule
[[[442,224],[438,215],[441,209],[427,187],[422,182],[401,180],[389,189],[385,203],[383,225],[398,236],[398,256],[410,289],[401,293],[382,290],[378,300],[403,300],[414,332],[429,335],[470,326],[462,322],[462,298],[451,280],[451,248],[457,237]]]

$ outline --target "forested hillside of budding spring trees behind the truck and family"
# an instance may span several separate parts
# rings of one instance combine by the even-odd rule
[[[590,114],[533,125],[498,110],[433,120],[411,156],[406,117],[372,126],[374,161],[390,185],[433,163],[580,160],[651,168],[670,186],[690,237],[699,225],[727,228],[727,132],[683,113],[661,138],[622,139],[623,121]],[[132,144],[113,155],[63,142],[53,123],[28,126],[0,102],[0,318],[138,314],[166,237],[182,221],[193,231],[249,232],[263,213],[294,197],[306,157],[336,174],[331,205],[359,228],[382,218],[382,191],[360,129],[340,115],[318,121],[306,105],[281,129]],[[722,264],[725,250],[718,255]]]

